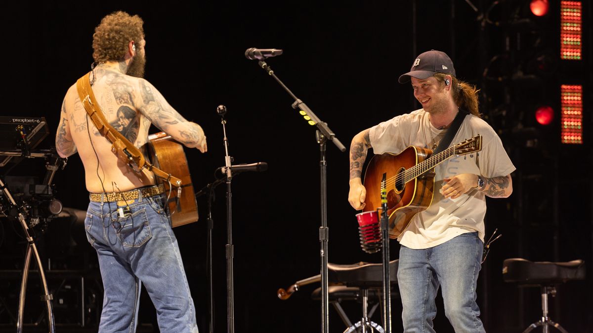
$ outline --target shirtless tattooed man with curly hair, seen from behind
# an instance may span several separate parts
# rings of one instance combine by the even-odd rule
[[[184,119],[142,78],[143,24],[138,15],[119,11],[95,28],[93,57],[98,65],[90,79],[98,104],[111,124],[120,124],[122,114],[132,116],[126,115],[126,126],[115,127],[138,148],[148,141],[154,124],[183,145],[206,152],[202,127]],[[195,307],[164,211],[162,187],[155,185],[151,171],[136,173],[111,151],[109,140],[87,116],[76,85],[62,104],[56,149],[62,157],[78,152],[84,164],[90,192],[85,229],[97,251],[105,290],[99,332],[135,331],[144,283],[161,332],[196,333]]]

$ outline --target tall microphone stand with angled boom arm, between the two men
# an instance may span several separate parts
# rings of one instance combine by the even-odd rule
[[[259,60],[260,67],[264,69],[270,76],[272,76],[281,86],[288,92],[289,95],[295,100],[292,103],[292,108],[301,111],[301,114],[305,116],[309,123],[317,127],[315,132],[315,139],[319,145],[321,152],[320,159],[320,185],[321,185],[321,227],[319,228],[319,241],[320,241],[320,260],[321,260],[321,332],[329,332],[329,295],[327,292],[328,281],[327,281],[327,243],[329,241],[329,228],[327,228],[327,161],[326,161],[326,141],[329,139],[334,145],[337,146],[340,151],[345,152],[346,147],[342,145],[342,142],[337,139],[336,135],[327,126],[327,123],[321,121],[313,111],[303,101],[299,100],[295,94],[292,93],[285,84],[280,81],[278,76],[274,74],[274,71],[267,65],[263,60]],[[308,117],[308,119],[307,119]]]

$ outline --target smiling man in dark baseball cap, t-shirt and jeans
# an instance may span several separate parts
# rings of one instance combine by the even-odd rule
[[[455,332],[484,332],[476,284],[483,261],[485,197],[510,196],[515,167],[496,132],[480,119],[476,87],[458,81],[447,54],[422,53],[399,82],[411,82],[422,108],[363,130],[352,139],[348,200],[356,210],[365,207],[361,175],[368,148],[375,154],[400,153],[408,146],[434,150],[461,113],[449,146],[481,135],[482,151],[453,156],[434,168],[432,203],[397,235],[401,244],[397,280],[404,332],[435,332],[432,320],[439,287]],[[414,185],[409,181],[406,188]]]

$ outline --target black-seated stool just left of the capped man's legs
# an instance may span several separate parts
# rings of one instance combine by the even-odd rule
[[[397,284],[398,263],[399,260],[393,260],[389,264],[391,286]],[[327,264],[327,280],[329,283],[341,284],[341,286],[329,286],[327,293],[329,302],[346,324],[347,328],[344,333],[384,332],[380,325],[369,321],[369,317],[373,315],[380,302],[375,303],[370,312],[368,310],[369,296],[381,299],[382,278],[383,268],[381,264],[369,264],[368,262],[357,262],[352,265]],[[321,299],[320,293],[321,288],[315,289],[311,297]],[[342,300],[358,300],[362,303],[362,318],[359,322],[355,324],[350,322],[342,306],[340,306]]]

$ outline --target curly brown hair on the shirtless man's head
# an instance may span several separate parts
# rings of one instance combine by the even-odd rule
[[[122,60],[130,40],[144,39],[142,18],[116,11],[101,20],[93,34],[93,59],[96,63]]]

